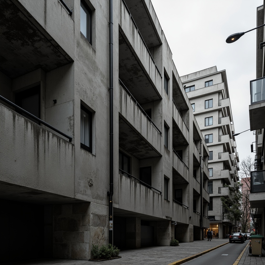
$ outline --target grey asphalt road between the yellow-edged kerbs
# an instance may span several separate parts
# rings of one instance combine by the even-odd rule
[[[240,253],[243,251],[243,249],[245,248],[248,242],[249,240],[246,240],[243,244],[240,242],[226,244],[196,259],[192,259],[186,262],[185,264],[186,265],[200,265],[200,264],[232,265],[236,261]]]

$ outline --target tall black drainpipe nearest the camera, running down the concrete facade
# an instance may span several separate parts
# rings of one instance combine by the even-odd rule
[[[113,0],[109,0],[109,244],[113,245]]]

